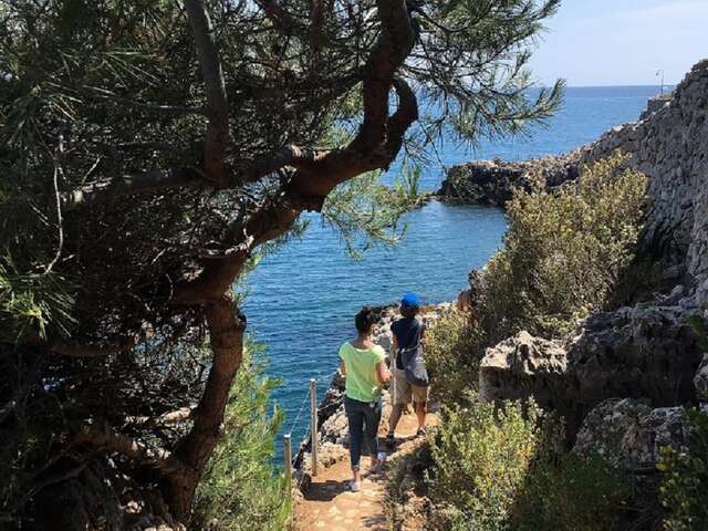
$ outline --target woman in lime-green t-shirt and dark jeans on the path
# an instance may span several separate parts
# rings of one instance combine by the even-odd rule
[[[372,342],[374,312],[363,308],[356,314],[354,324],[357,336],[340,347],[340,371],[346,378],[344,387],[344,410],[350,423],[350,458],[352,460],[352,491],[362,487],[360,459],[362,441],[372,457],[372,469],[378,470],[386,454],[378,452],[378,423],[382,412],[382,385],[391,377],[386,368],[384,350]]]

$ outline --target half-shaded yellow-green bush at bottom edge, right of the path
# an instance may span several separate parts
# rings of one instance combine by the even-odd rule
[[[627,489],[602,459],[565,450],[562,425],[535,405],[444,410],[430,492],[447,525],[475,531],[607,531]]]

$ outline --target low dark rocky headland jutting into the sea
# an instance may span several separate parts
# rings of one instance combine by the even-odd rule
[[[476,160],[452,166],[437,196],[503,207],[514,189],[551,190],[579,175],[580,152],[518,163]]]

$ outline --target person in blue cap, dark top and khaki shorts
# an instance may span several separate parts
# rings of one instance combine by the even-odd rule
[[[413,408],[418,418],[417,436],[426,435],[425,417],[428,404],[428,387],[414,385],[408,382],[403,366],[402,352],[410,348],[420,348],[425,339],[425,324],[416,315],[420,311],[420,299],[415,293],[406,293],[400,300],[400,316],[391,325],[393,332],[394,361],[394,407],[388,417],[388,435],[386,445],[395,445],[395,431],[400,414],[413,400]]]

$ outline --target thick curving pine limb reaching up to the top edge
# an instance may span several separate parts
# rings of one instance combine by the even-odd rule
[[[415,31],[405,0],[379,0],[382,35],[367,62],[364,76],[364,121],[344,148],[311,153],[278,197],[233,225],[227,246],[238,248],[229,257],[210,261],[202,272],[176,287],[176,304],[202,304],[218,300],[241,272],[250,253],[261,243],[287,232],[303,210],[320,210],[324,198],[341,183],[378,168],[387,168],[400,150],[408,127],[418,117],[415,93],[394,79],[413,48]],[[382,81],[385,80],[385,81]],[[388,93],[394,86],[398,108],[388,116]],[[368,103],[367,103],[368,102]]]

